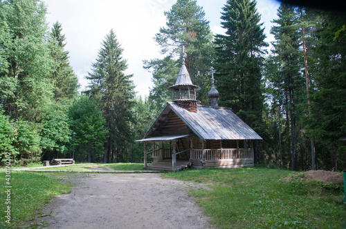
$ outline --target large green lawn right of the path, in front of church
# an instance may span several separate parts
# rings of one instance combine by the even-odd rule
[[[201,169],[163,177],[209,183],[190,195],[217,228],[346,228],[343,183],[305,181],[287,170],[269,168]]]

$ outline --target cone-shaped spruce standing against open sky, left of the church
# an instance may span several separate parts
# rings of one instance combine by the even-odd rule
[[[86,93],[100,104],[108,130],[104,162],[122,161],[128,153],[134,84],[131,81],[132,75],[124,73],[126,69],[122,48],[111,30],[102,42],[92,72],[86,77],[91,80],[90,90]]]

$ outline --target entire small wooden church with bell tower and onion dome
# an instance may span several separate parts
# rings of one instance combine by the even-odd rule
[[[214,85],[208,93],[211,106],[200,105],[196,97],[199,86],[192,83],[185,59],[170,86],[172,101],[158,116],[143,139],[144,167],[152,170],[192,168],[236,168],[253,166],[253,141],[262,139],[231,108],[218,106],[219,92]],[[147,152],[147,144],[153,150]],[[152,163],[148,164],[148,155]]]

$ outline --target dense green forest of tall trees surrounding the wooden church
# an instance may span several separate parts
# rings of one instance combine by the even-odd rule
[[[136,96],[116,31],[104,34],[98,58],[79,92],[62,24],[46,22],[40,0],[0,1],[0,163],[53,158],[140,162],[141,139],[172,99],[185,65],[209,105],[210,68],[219,105],[232,108],[262,138],[255,163],[290,170],[346,169],[346,14],[281,3],[264,39],[256,1],[225,0],[224,34],[212,34],[194,0],[177,0],[166,25],[152,34],[162,59],[143,60],[152,72],[149,96]]]

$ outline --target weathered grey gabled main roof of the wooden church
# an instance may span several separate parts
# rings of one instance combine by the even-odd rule
[[[174,102],[167,102],[167,106],[156,119],[144,139],[152,136],[153,128],[165,115],[174,112],[187,126],[202,140],[261,140],[262,137],[251,129],[242,119],[237,117],[230,108],[212,108],[201,106],[197,112],[189,112]],[[143,140],[144,140],[143,139]]]

